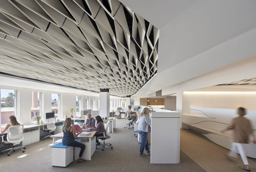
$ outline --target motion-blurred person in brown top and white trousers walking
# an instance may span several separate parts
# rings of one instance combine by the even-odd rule
[[[224,131],[233,129],[234,130],[234,143],[232,143],[230,152],[228,153],[228,156],[231,157],[237,157],[237,154],[235,153],[235,150],[237,149],[238,152],[241,155],[241,158],[243,160],[244,165],[239,165],[240,168],[251,171],[249,168],[249,163],[247,160],[247,157],[245,155],[243,144],[248,144],[249,142],[249,134],[253,137],[253,142],[256,143],[255,136],[253,134],[252,125],[249,119],[243,117],[246,112],[245,108],[239,107],[237,113],[239,114],[238,117],[233,118],[231,125],[229,125],[224,130],[221,130],[221,133]]]

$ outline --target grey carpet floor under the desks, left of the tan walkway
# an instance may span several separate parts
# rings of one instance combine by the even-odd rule
[[[0,171],[205,171],[182,151],[178,164],[150,164],[150,156],[138,156],[140,144],[133,129],[124,128],[126,123],[126,119],[116,120],[114,133],[108,139],[113,149],[96,149],[91,161],[73,161],[65,168],[52,167],[52,139],[48,138],[26,146],[24,153],[17,150],[9,157],[7,153],[0,155]]]

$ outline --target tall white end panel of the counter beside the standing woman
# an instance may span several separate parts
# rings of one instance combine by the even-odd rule
[[[152,112],[150,163],[179,163],[180,112]]]

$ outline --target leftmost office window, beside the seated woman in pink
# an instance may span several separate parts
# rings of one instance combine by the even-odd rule
[[[15,90],[1,89],[1,125],[10,123],[9,116],[15,115]]]

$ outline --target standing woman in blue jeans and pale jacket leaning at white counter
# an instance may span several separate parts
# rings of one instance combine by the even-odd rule
[[[141,146],[140,146],[140,156],[150,155],[149,151],[149,141],[148,141],[148,133],[149,125],[151,125],[151,119],[149,117],[149,108],[144,108],[141,112],[141,117],[139,119],[139,125],[137,127],[138,133],[141,135]],[[144,154],[144,148],[147,154]]]

